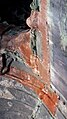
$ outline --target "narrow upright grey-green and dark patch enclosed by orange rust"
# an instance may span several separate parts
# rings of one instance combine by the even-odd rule
[[[30,34],[30,47],[34,55],[38,56],[40,60],[43,59],[42,56],[42,43],[41,43],[41,32],[33,29]]]

